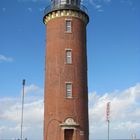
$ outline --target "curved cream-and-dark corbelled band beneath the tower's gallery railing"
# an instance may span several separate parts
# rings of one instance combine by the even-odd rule
[[[85,24],[89,22],[88,16],[80,11],[74,11],[74,10],[57,10],[52,11],[46,16],[44,16],[44,24],[47,24],[50,20],[58,17],[75,17],[79,18],[84,21]]]

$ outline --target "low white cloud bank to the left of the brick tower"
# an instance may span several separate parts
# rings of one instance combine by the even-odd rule
[[[6,100],[0,101],[1,138],[19,138],[20,136],[21,102],[20,99],[17,102],[15,100],[11,98],[10,103]],[[23,134],[29,139],[41,140],[43,137],[43,106],[42,99],[30,100],[28,103],[25,101]]]

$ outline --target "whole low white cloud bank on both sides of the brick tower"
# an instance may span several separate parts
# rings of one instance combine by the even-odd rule
[[[29,95],[41,90],[36,85],[26,87],[24,105],[24,136],[28,139],[43,139],[43,97]],[[90,140],[107,138],[106,103],[111,102],[111,138],[131,138],[135,132],[140,137],[140,84],[124,91],[115,91],[98,95],[89,94]],[[21,99],[0,99],[0,136],[18,138],[20,136]],[[36,133],[35,133],[36,132]],[[101,135],[102,134],[102,135]],[[119,134],[119,135],[118,135]]]

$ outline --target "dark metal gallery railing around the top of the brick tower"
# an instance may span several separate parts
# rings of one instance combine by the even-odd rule
[[[71,9],[71,10],[79,10],[88,14],[87,8],[82,4],[74,4],[74,3],[65,3],[65,1],[61,1],[60,3],[52,3],[48,7],[45,8],[44,14],[47,15],[51,11],[55,11],[58,9]]]

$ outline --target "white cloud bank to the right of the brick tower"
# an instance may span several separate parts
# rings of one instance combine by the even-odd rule
[[[136,132],[140,130],[140,84],[124,91],[106,93],[103,96],[97,93],[90,94],[89,117],[92,139],[105,138],[107,135],[106,103],[109,101],[112,138],[130,138],[133,130]],[[102,135],[98,135],[99,132]],[[116,132],[119,135],[116,135]]]

